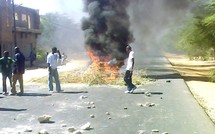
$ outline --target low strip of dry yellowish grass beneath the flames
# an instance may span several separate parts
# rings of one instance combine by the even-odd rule
[[[61,83],[81,83],[88,85],[124,85],[124,73],[119,73],[117,78],[111,78],[111,71],[92,71],[86,69],[75,69],[71,71],[60,72],[59,77]],[[133,74],[133,83],[135,85],[144,85],[152,81],[146,78],[144,69],[135,70]],[[48,78],[36,78],[32,82],[47,83]]]

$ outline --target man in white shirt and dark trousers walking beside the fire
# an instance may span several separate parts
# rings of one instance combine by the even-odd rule
[[[133,75],[133,69],[134,69],[134,51],[132,51],[131,46],[127,46],[126,52],[128,54],[128,59],[127,59],[127,65],[126,65],[126,72],[124,76],[124,81],[127,85],[127,90],[125,91],[125,93],[133,93],[134,90],[137,88],[132,83],[132,75]]]

